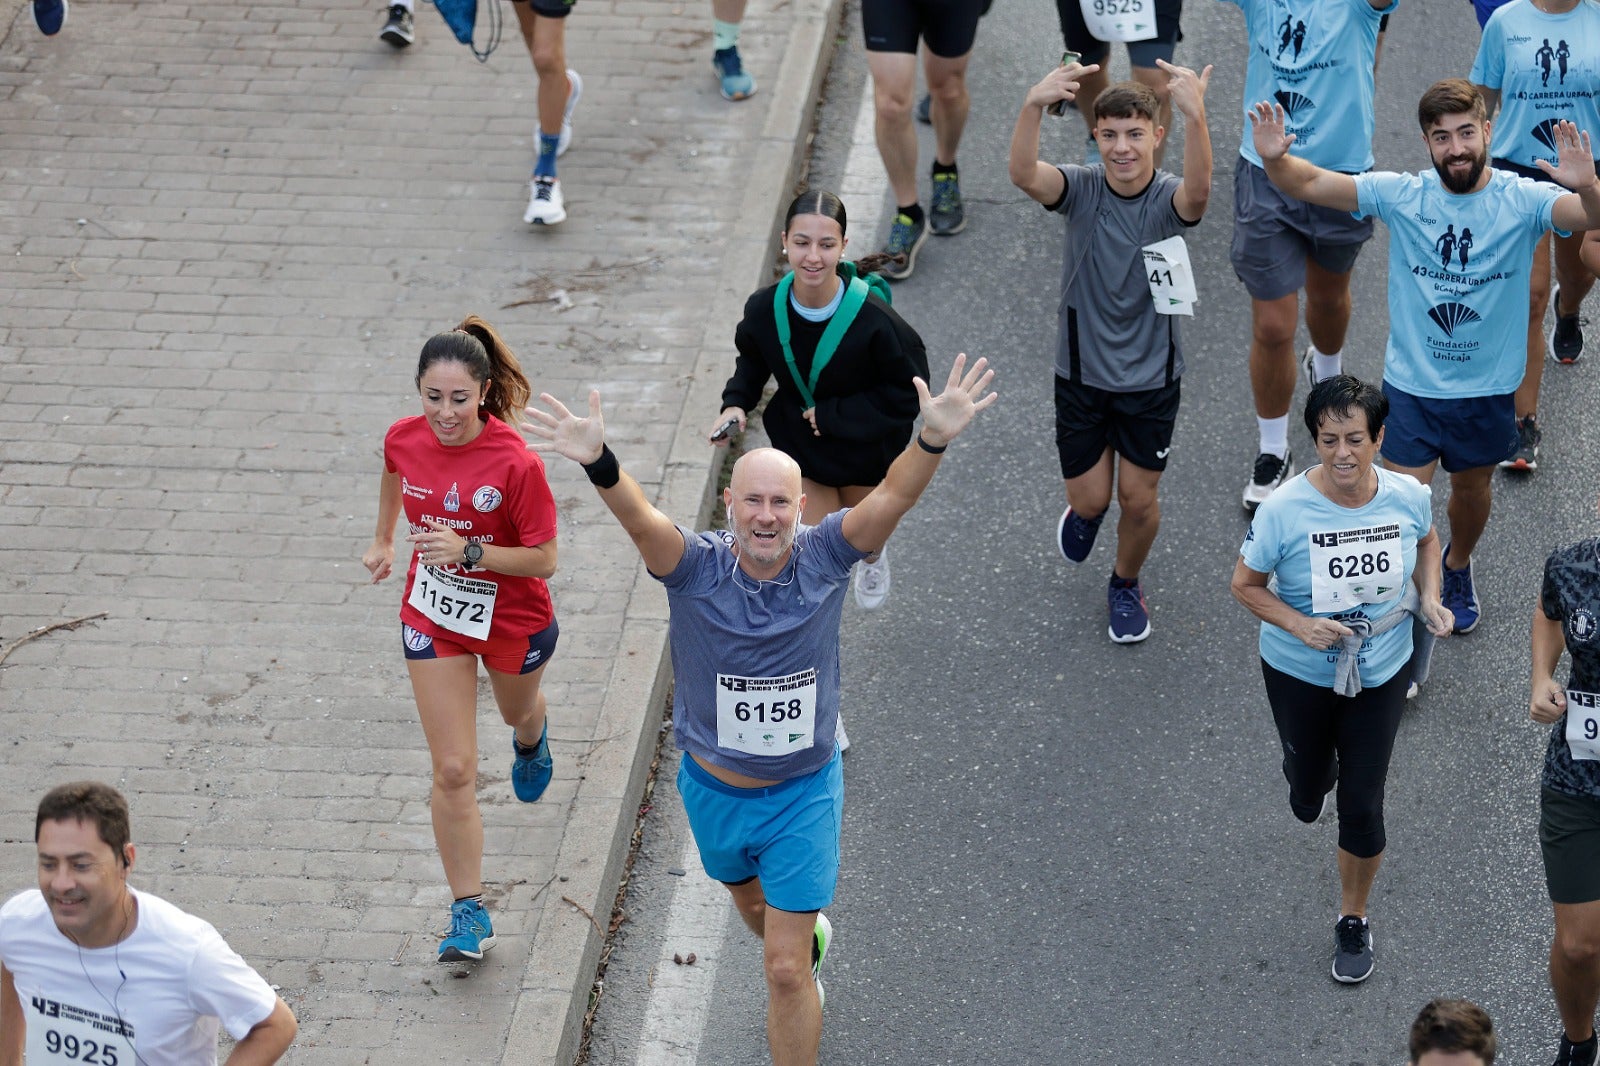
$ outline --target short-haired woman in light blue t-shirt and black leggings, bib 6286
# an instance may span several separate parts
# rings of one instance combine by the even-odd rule
[[[1411,685],[1410,615],[1440,637],[1454,624],[1438,602],[1430,491],[1376,463],[1387,415],[1382,391],[1349,375],[1312,389],[1306,427],[1322,464],[1256,509],[1232,581],[1261,619],[1290,810],[1314,823],[1336,799],[1333,978],[1346,984],[1373,972],[1366,898],[1387,844],[1384,783]]]

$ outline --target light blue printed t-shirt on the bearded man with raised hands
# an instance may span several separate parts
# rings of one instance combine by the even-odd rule
[[[1432,170],[1355,176],[1354,214],[1389,227],[1384,381],[1430,400],[1517,391],[1528,363],[1533,246],[1565,192],[1502,170],[1464,195]]]

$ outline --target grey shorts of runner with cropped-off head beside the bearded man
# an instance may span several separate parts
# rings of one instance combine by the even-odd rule
[[[1349,274],[1373,235],[1373,219],[1293,200],[1248,158],[1234,170],[1234,274],[1254,299],[1280,299],[1306,285],[1306,259]]]

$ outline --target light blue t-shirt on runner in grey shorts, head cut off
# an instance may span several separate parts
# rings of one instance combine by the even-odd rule
[[[1373,62],[1378,22],[1398,6],[1366,0],[1224,0],[1245,13],[1245,138],[1238,154],[1256,166],[1248,112],[1283,104],[1294,134],[1290,152],[1326,170],[1355,174],[1373,166]]]

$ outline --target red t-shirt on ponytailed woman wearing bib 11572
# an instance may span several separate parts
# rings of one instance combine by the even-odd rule
[[[400,475],[400,499],[411,533],[432,519],[466,538],[501,547],[538,547],[555,539],[555,498],[544,479],[544,461],[530,451],[522,434],[493,416],[470,443],[445,447],[421,415],[402,418],[384,437],[384,469]],[[400,621],[430,637],[472,647],[478,642],[442,629],[408,602],[416,581],[418,552],[405,575]],[[542,578],[517,578],[493,570],[462,571],[494,581],[494,619],[490,640],[536,634],[555,618],[550,589]]]

